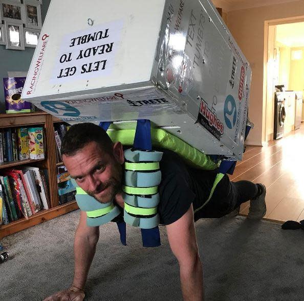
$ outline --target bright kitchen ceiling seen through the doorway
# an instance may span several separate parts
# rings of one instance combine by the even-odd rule
[[[276,40],[288,47],[304,47],[304,22],[277,25]]]

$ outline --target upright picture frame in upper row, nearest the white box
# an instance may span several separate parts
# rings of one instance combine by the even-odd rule
[[[37,0],[24,0],[26,28],[41,29],[41,5]]]

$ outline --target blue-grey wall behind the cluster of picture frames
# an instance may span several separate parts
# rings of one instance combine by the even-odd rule
[[[45,20],[51,0],[42,1],[41,19]],[[8,77],[9,71],[27,72],[30,67],[34,48],[25,50],[5,49],[5,45],[0,45],[0,113],[5,113],[3,78]]]

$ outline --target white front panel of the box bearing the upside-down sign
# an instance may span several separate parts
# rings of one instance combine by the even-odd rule
[[[85,94],[83,92],[100,87],[148,81],[164,3],[165,0],[52,0],[25,84],[25,90],[31,93],[25,94],[24,98],[70,91]],[[94,22],[93,26],[88,24],[88,19]],[[95,36],[97,40],[77,45],[78,41],[82,41],[77,37],[90,33],[93,37],[94,33],[100,31],[107,37],[97,39]],[[73,38],[76,38],[74,45]],[[88,48],[95,47],[96,50],[98,46],[112,42],[111,57],[110,53],[93,55],[91,51],[88,59],[77,59],[81,50],[84,54]],[[70,61],[60,63],[61,57],[61,61],[64,61],[64,55]],[[89,71],[91,61],[91,70],[94,70],[97,67],[95,62],[106,58],[104,70],[103,63],[100,63],[97,71],[81,74],[83,64],[87,63],[85,70]],[[35,76],[37,61],[39,70]],[[75,73],[73,67],[76,67]],[[67,74],[70,76],[63,76]]]

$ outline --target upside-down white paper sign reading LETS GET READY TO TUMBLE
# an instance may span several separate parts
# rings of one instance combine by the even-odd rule
[[[111,74],[122,25],[122,21],[114,21],[65,36],[56,56],[52,82]]]

